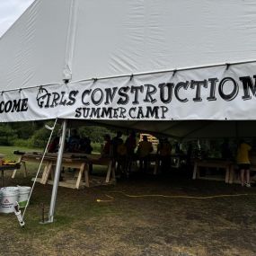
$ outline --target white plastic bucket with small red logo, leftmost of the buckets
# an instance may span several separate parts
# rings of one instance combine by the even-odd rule
[[[19,190],[16,187],[4,187],[1,189],[1,213],[13,213],[13,204],[18,201]]]

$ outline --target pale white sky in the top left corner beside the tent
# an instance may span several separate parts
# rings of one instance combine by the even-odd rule
[[[0,37],[34,0],[0,0]]]

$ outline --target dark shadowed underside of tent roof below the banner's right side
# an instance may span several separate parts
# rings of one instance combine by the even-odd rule
[[[255,120],[167,120],[167,121],[96,121],[124,130],[152,131],[156,136],[168,136],[181,140],[219,137],[256,137]]]

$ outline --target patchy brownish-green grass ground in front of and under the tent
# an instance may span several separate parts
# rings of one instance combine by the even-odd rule
[[[7,176],[5,182],[31,186],[35,170],[30,170],[28,178],[19,172],[14,180]],[[251,256],[256,252],[255,187],[192,181],[187,170],[172,170],[164,177],[134,173],[115,186],[59,187],[55,222],[40,225],[41,204],[47,215],[51,190],[50,185],[36,183],[24,228],[13,214],[0,215],[0,255]],[[250,195],[216,199],[126,196],[243,193]]]

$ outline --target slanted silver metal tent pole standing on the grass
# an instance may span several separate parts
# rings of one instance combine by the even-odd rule
[[[59,180],[59,174],[61,170],[61,163],[62,163],[62,156],[65,146],[65,138],[66,138],[66,119],[63,121],[62,124],[62,135],[60,139],[60,145],[57,152],[57,163],[56,163],[56,170],[55,170],[55,176],[54,176],[54,182],[52,187],[52,193],[51,193],[51,200],[50,200],[50,206],[49,206],[49,223],[53,222],[54,217],[54,211],[55,211],[55,205],[56,205],[56,199],[57,199],[57,186],[58,186],[58,180]]]

